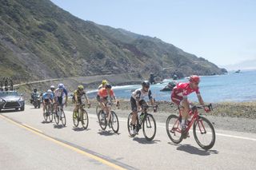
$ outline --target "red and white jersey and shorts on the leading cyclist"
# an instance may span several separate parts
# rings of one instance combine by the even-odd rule
[[[186,98],[190,93],[197,93],[200,94],[199,88],[192,89],[190,87],[190,83],[178,83],[171,93],[171,100],[174,101],[177,105],[183,100],[183,98]]]

